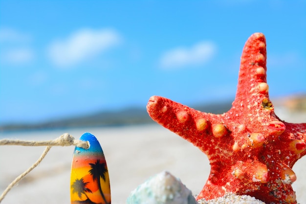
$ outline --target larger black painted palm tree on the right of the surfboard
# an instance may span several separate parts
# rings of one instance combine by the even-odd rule
[[[100,159],[97,159],[95,163],[89,163],[91,169],[89,170],[89,174],[92,175],[93,181],[97,180],[100,194],[105,202],[105,204],[110,204],[107,202],[105,195],[101,188],[100,177],[106,181],[105,174],[108,172],[106,163],[100,163]]]

